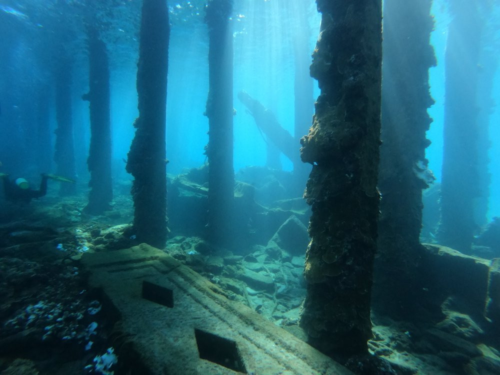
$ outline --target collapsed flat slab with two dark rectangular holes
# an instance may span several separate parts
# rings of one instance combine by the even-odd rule
[[[85,253],[89,283],[115,310],[118,358],[151,374],[351,374],[147,244]],[[145,372],[144,372],[145,373]]]

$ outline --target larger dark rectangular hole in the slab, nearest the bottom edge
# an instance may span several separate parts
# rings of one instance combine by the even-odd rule
[[[196,345],[199,357],[230,368],[231,370],[246,373],[243,360],[239,356],[236,341],[217,336],[216,334],[194,328]]]

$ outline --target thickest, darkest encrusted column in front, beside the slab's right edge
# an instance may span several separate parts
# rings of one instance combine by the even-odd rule
[[[322,13],[310,66],[321,94],[302,161],[313,164],[301,325],[344,361],[367,353],[379,194],[381,1],[316,0]]]

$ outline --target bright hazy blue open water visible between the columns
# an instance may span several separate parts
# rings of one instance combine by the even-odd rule
[[[237,92],[246,90],[264,106],[271,109],[283,127],[293,134],[293,32],[297,31],[293,4],[306,0],[235,0],[234,1],[234,167],[264,165],[265,142],[257,130],[253,118],[246,113],[237,99]],[[117,179],[129,179],[124,171],[130,141],[137,116],[135,73],[138,48],[139,0],[102,1],[113,3],[109,32],[105,41],[109,48],[111,66],[111,121],[113,138],[113,168]],[[92,3],[93,2],[88,2]],[[101,2],[95,2],[101,3]],[[205,161],[203,147],[207,142],[207,118],[203,116],[208,90],[207,35],[203,21],[204,1],[169,1],[172,23],[169,47],[169,72],[167,93],[167,158],[168,173],[179,173],[184,168],[197,167]],[[432,141],[427,149],[429,167],[440,180],[442,159],[442,124],[444,103],[444,50],[449,15],[445,0],[436,0],[433,5],[435,31],[431,36],[437,57],[437,66],[430,69],[431,94],[435,104],[429,109],[434,121],[428,131]],[[0,51],[13,51],[4,58],[2,75],[19,80],[17,90],[32,86],[33,77],[46,75],[37,60],[36,35],[50,28],[60,19],[73,22],[75,28],[81,21],[85,1],[25,0],[0,1],[0,27],[4,35],[0,39]],[[62,6],[64,5],[64,6]],[[279,6],[278,6],[279,5]],[[102,5],[104,7],[104,5]],[[107,9],[100,9],[103,14]],[[72,12],[72,13],[71,13]],[[315,3],[310,0],[307,12],[310,26],[310,50],[317,37],[320,16]],[[59,18],[57,18],[59,16]],[[498,15],[495,19],[498,20]],[[55,20],[54,20],[55,19]],[[5,33],[7,33],[6,35]],[[8,48],[7,48],[8,46]],[[86,175],[86,152],[88,150],[88,103],[80,96],[88,89],[87,56],[84,30],[76,35],[74,48],[73,120],[77,167],[80,178]],[[492,46],[498,49],[498,45]],[[3,53],[3,52],[0,52]],[[5,56],[4,56],[5,57]],[[496,73],[493,98],[500,101],[500,74]],[[6,79],[6,78],[5,78]],[[2,83],[3,82],[3,83]],[[0,103],[2,116],[0,126],[3,136],[12,136],[11,124],[2,123],[6,111],[29,111],[26,104],[10,107],[5,81],[0,79]],[[10,88],[9,88],[10,89]],[[22,93],[22,92],[21,92]],[[315,85],[314,97],[318,89]],[[24,97],[29,93],[23,94]],[[47,95],[53,95],[47,92]],[[22,95],[18,94],[19,97]],[[29,103],[29,100],[27,100]],[[471,105],[474,105],[471,103]],[[20,109],[19,109],[20,108]],[[51,127],[55,128],[54,110],[50,112]],[[311,109],[312,113],[312,109]],[[500,113],[498,106],[490,118],[490,206],[489,218],[500,215]],[[5,130],[8,130],[7,132]],[[303,134],[301,134],[303,135]],[[298,152],[297,144],[297,152]],[[2,160],[3,161],[3,160]],[[282,164],[289,169],[291,164],[282,156]],[[4,165],[5,168],[5,165]],[[39,172],[39,171],[37,171]],[[305,181],[304,181],[305,185]]]

